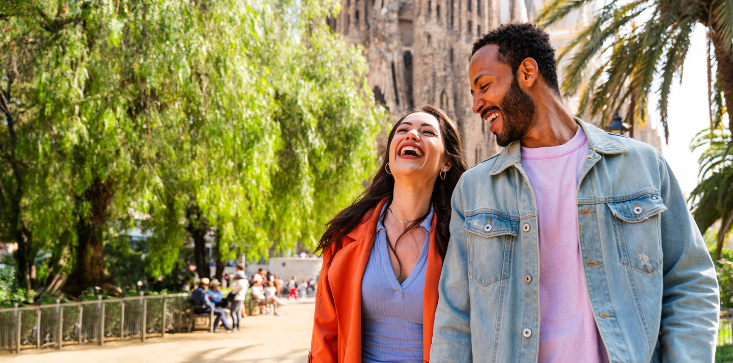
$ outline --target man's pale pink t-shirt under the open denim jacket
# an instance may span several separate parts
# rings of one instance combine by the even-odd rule
[[[582,128],[560,146],[522,147],[539,222],[539,363],[605,363],[578,242],[578,179],[588,141]]]

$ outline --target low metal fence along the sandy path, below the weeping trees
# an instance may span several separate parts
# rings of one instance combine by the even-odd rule
[[[0,350],[56,348],[73,344],[98,344],[120,339],[139,339],[167,332],[183,332],[192,319],[191,294],[131,296],[86,302],[46,304],[0,309]],[[195,323],[195,321],[194,321]]]

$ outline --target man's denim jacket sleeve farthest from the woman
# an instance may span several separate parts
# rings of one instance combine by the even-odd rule
[[[685,197],[658,154],[661,196],[663,298],[658,362],[714,362],[720,291],[715,267]]]

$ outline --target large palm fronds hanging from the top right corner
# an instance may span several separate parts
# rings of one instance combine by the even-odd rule
[[[595,0],[550,0],[537,15],[537,22],[550,26],[590,1]],[[660,77],[658,111],[668,137],[669,91],[674,76],[682,76],[697,23],[708,27],[718,65],[714,82],[718,93],[713,98],[733,105],[732,0],[606,1],[597,18],[560,50],[558,59],[572,53],[564,68],[562,94],[570,97],[579,91],[579,111],[601,116],[603,120],[611,119],[628,99],[633,110],[629,113],[630,121],[644,122],[652,81]],[[576,51],[571,52],[573,49]],[[604,60],[586,77],[584,73],[597,54],[603,54]],[[719,121],[714,122],[713,128]],[[729,123],[729,128],[733,127],[732,117]]]

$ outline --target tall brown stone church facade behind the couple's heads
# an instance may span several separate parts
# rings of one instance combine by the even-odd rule
[[[437,105],[457,121],[469,166],[501,149],[488,124],[471,111],[471,47],[501,23],[531,20],[542,0],[341,1],[341,13],[326,21],[348,44],[364,47],[369,87],[393,122],[415,106]],[[592,19],[595,6],[547,29],[557,50]]]

